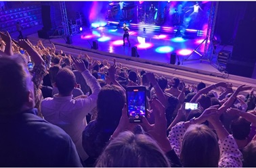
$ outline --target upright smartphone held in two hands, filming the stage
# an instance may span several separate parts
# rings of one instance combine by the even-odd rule
[[[146,115],[146,87],[128,86],[126,89],[127,113],[129,121],[142,122],[142,116]]]

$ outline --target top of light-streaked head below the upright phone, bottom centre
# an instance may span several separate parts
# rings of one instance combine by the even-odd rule
[[[170,167],[163,150],[149,136],[122,132],[106,146],[96,167]]]

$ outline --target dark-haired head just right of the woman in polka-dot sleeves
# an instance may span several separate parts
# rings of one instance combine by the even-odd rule
[[[242,117],[234,119],[230,125],[232,135],[236,140],[245,140],[251,131],[251,123]]]

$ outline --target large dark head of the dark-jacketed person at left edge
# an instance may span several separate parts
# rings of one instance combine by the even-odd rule
[[[28,96],[23,65],[14,59],[0,57],[0,113],[18,113]]]

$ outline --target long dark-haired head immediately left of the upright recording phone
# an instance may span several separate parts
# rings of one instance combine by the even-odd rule
[[[117,126],[125,105],[125,92],[115,85],[102,87],[98,94],[97,120],[105,125]]]

